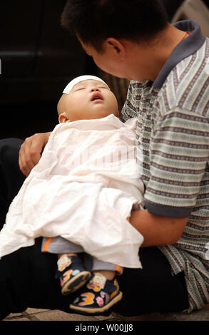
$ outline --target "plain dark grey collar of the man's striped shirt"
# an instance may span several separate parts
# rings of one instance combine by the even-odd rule
[[[182,31],[190,31],[190,35],[178,44],[168,57],[165,65],[161,69],[156,81],[153,82],[153,87],[161,88],[170,71],[183,61],[184,58],[192,55],[195,51],[205,43],[205,36],[201,32],[200,25],[193,20],[179,21],[173,24],[176,28]]]

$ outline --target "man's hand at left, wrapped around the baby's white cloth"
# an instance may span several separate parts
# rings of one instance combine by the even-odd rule
[[[39,133],[26,138],[19,150],[19,168],[28,177],[32,168],[39,163],[41,154],[49,140],[49,133]]]

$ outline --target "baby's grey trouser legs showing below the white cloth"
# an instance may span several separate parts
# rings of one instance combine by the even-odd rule
[[[67,254],[71,252],[75,252],[77,254],[84,252],[83,248],[80,245],[74,244],[68,241],[68,239],[63,239],[63,237],[59,236],[53,237],[50,242],[49,238],[44,237],[41,245],[41,251],[50,252],[51,254]],[[116,264],[101,262],[100,260],[86,253],[83,255],[83,264],[85,265],[86,269],[91,272],[96,270],[111,270],[118,272],[118,267],[116,267]],[[123,270],[120,267],[119,272],[122,271]]]

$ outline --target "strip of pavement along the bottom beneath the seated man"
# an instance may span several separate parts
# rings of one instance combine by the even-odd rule
[[[9,314],[2,321],[209,321],[209,304],[200,311],[184,313],[152,313],[143,316],[124,317],[116,313],[110,316],[83,316],[49,309],[26,309],[23,313]]]

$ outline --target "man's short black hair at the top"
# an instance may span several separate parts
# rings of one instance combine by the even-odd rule
[[[108,37],[148,41],[168,24],[160,0],[68,0],[61,25],[102,51]]]

